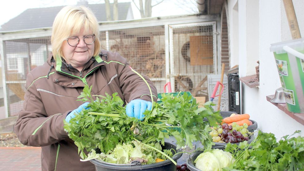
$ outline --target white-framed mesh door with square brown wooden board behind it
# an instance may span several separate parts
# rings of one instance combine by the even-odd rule
[[[170,72],[175,92],[208,97],[207,75],[214,73],[214,24],[170,27]]]

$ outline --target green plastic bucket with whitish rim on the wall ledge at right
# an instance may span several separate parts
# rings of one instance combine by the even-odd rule
[[[287,109],[304,113],[304,38],[271,44]]]

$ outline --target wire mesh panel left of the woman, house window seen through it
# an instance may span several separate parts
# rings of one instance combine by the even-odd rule
[[[10,116],[22,109],[26,76],[36,66],[45,63],[51,52],[50,37],[4,41],[6,90]]]

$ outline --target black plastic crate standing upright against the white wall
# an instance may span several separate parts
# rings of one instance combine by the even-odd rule
[[[237,73],[228,74],[229,111],[241,113],[240,80]]]

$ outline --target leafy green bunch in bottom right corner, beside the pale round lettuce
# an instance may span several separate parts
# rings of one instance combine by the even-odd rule
[[[294,134],[301,131],[295,131]],[[294,135],[292,134],[292,135]],[[228,143],[225,151],[231,152],[235,163],[223,170],[293,171],[304,169],[304,137],[286,135],[278,142],[272,133],[259,130],[250,144],[246,141],[237,146]]]

